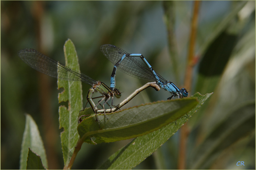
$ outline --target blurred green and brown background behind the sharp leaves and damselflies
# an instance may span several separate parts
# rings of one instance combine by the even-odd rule
[[[113,44],[143,54],[189,96],[214,92],[134,169],[255,169],[255,1],[1,1],[1,169],[19,169],[25,113],[38,125],[48,168],[63,168],[57,79],[17,52],[34,48],[65,63],[68,38],[81,72],[95,80],[110,84],[113,65],[100,46]],[[145,83],[118,70],[123,93],[114,103]],[[90,86],[82,86],[85,105]],[[149,88],[122,109],[168,97]],[[72,169],[95,169],[129,141],[84,143]]]

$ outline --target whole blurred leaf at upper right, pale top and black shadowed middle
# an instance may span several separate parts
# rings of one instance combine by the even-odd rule
[[[199,65],[198,80],[195,91],[209,93],[215,90],[226,65],[231,58],[237,40],[241,35],[230,32],[230,28],[237,28],[233,23],[238,22],[239,11],[246,5],[247,1],[234,2],[230,13],[210,28],[207,37],[199,48],[201,61]]]

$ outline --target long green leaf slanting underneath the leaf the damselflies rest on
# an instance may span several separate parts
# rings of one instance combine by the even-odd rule
[[[212,93],[211,93],[212,94]],[[202,104],[211,94],[200,95],[196,93],[193,97],[199,103],[188,112],[188,116],[182,116],[176,122],[170,123],[161,129],[137,137],[125,147],[114,153],[98,169],[132,169],[148,156],[160,148],[177,130],[184,125],[197,112]]]

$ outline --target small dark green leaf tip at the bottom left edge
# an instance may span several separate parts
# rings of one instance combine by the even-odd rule
[[[41,157],[28,148],[28,159],[26,169],[46,169],[42,165]]]

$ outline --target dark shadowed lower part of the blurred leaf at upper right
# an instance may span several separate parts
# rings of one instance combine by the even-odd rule
[[[215,90],[236,45],[236,39],[236,35],[222,32],[211,43],[199,65],[196,91],[208,93]]]

